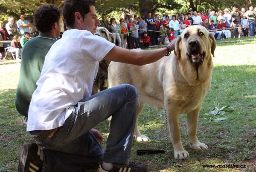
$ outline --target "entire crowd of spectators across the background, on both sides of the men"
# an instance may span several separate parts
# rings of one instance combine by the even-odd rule
[[[132,17],[132,14],[125,14],[120,20],[116,20],[113,17],[108,20],[107,15],[102,14],[99,20],[101,26],[107,28],[113,34],[117,46],[136,49],[164,45],[166,42],[168,44],[169,41],[172,41],[182,33],[186,27],[192,25],[204,26],[215,35],[217,40],[247,37],[249,34],[254,36],[256,7],[250,6],[247,11],[245,11],[245,8],[241,8],[240,11],[236,7],[233,7],[232,11],[229,9],[224,9],[224,11],[208,9],[207,12],[204,10],[198,12],[190,9],[186,14],[175,13],[169,15],[168,12],[165,12],[162,16],[148,12],[146,17],[143,15],[140,17],[134,15]],[[65,23],[62,21],[61,35],[65,30]],[[12,16],[6,19],[5,27],[3,21],[0,21],[0,60],[5,57],[3,41],[17,41],[14,37],[18,36],[21,44],[20,51],[22,51],[25,43],[32,37],[32,33],[36,31],[33,20],[25,20],[25,14],[23,13],[20,14],[17,24]]]

